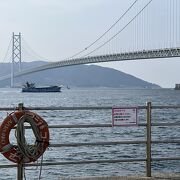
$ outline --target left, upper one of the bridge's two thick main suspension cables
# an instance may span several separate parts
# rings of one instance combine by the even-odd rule
[[[120,16],[120,18],[113,25],[111,25],[111,27],[108,30],[106,30],[101,36],[99,36],[95,41],[93,41],[86,48],[82,49],[81,51],[77,52],[76,54],[72,55],[71,57],[69,57],[67,59],[72,59],[72,58],[78,56],[79,54],[83,53],[84,51],[89,49],[91,46],[93,46],[96,42],[98,42],[102,37],[104,37],[130,11],[130,9],[137,3],[137,1],[138,0],[135,0],[132,3],[132,5]]]

